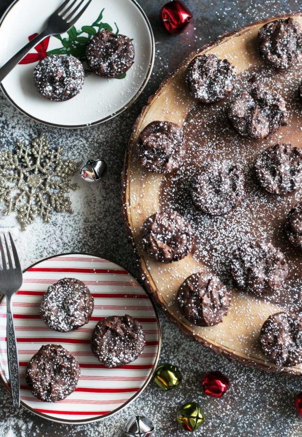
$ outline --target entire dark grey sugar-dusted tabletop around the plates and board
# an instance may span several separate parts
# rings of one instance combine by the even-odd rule
[[[193,13],[193,20],[184,33],[170,36],[161,28],[158,20],[159,10],[165,1],[139,1],[151,22],[155,37],[153,73],[144,92],[131,108],[105,124],[80,130],[47,127],[17,112],[0,95],[1,148],[12,148],[17,139],[27,141],[43,131],[52,144],[66,147],[66,155],[79,161],[87,156],[99,157],[108,164],[107,174],[99,184],[88,186],[81,179],[76,180],[80,190],[71,196],[74,215],[66,214],[58,219],[56,216],[49,224],[37,221],[23,233],[16,231],[18,225],[12,219],[0,216],[0,227],[14,228],[24,268],[46,256],[83,251],[115,261],[138,277],[121,213],[121,172],[132,126],[148,97],[190,52],[224,32],[268,16],[302,11],[300,3],[293,0],[184,2]],[[9,3],[0,1],[0,14]],[[102,1],[100,7],[103,7]],[[141,396],[113,417],[77,426],[41,420],[23,408],[14,411],[9,395],[0,387],[0,437],[122,437],[124,423],[135,414],[145,414],[153,420],[156,429],[154,437],[183,436],[186,433],[178,427],[175,413],[181,403],[189,400],[199,400],[206,415],[205,423],[194,433],[195,436],[302,435],[302,418],[293,406],[295,395],[302,391],[300,378],[269,374],[231,363],[185,338],[161,312],[159,316],[162,328],[160,362],[171,362],[179,366],[183,382],[177,390],[165,393],[151,382]],[[222,371],[231,381],[227,394],[221,399],[202,394],[201,377],[211,370]]]

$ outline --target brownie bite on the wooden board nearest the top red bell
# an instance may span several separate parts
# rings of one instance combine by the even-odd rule
[[[224,99],[233,88],[235,68],[216,55],[196,56],[186,70],[186,82],[192,96],[202,103]]]

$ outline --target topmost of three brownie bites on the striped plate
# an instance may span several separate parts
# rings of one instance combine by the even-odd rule
[[[93,309],[94,298],[84,282],[62,278],[43,295],[40,316],[50,329],[68,332],[88,323]]]

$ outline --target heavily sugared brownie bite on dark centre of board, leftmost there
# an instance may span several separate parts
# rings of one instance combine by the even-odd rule
[[[227,160],[201,166],[192,178],[192,200],[206,214],[226,214],[241,202],[244,194],[244,174]]]

